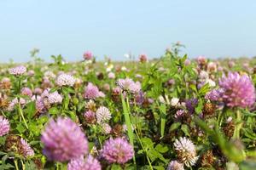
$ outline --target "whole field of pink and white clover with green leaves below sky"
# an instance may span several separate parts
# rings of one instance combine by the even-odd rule
[[[256,169],[255,59],[0,65],[0,169]]]

